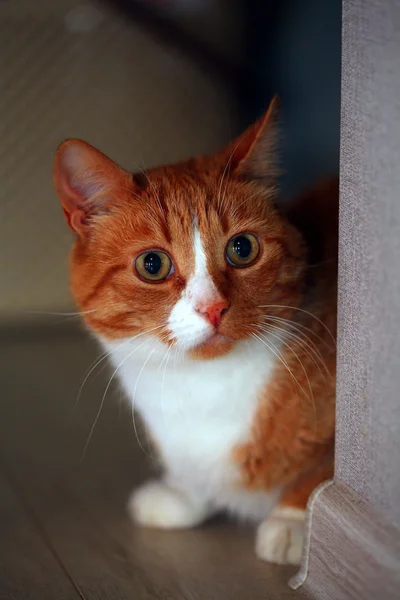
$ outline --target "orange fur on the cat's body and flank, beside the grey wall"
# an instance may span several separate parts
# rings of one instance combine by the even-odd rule
[[[308,313],[292,313],[296,334],[307,334],[308,340],[302,336],[282,349],[286,366],[280,363],[261,399],[253,438],[234,450],[234,459],[244,485],[270,488],[286,483],[281,504],[305,508],[314,487],[333,475],[337,181],[323,182],[301,197],[288,218],[303,231],[317,261],[309,265],[316,283]]]

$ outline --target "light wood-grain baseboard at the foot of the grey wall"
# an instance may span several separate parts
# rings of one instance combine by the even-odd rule
[[[323,600],[398,600],[399,530],[346,484],[326,487],[312,510],[307,578],[292,581],[301,584]]]

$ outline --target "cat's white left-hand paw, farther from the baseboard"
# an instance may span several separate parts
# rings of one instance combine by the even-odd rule
[[[162,529],[194,527],[209,514],[204,505],[162,481],[149,481],[135,490],[128,512],[136,523]]]

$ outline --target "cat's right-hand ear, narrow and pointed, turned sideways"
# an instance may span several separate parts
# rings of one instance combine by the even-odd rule
[[[249,179],[269,179],[279,175],[279,113],[280,101],[274,96],[266,113],[225,148],[222,160],[231,175]]]

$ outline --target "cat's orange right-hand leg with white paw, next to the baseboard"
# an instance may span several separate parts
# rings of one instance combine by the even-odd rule
[[[256,554],[277,564],[299,565],[304,541],[307,502],[312,491],[333,476],[333,463],[300,476],[257,529]]]

